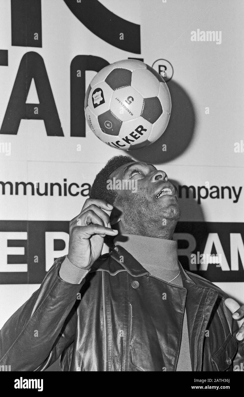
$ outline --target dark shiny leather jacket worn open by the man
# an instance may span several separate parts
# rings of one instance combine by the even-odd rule
[[[175,371],[184,308],[193,371],[232,371],[243,361],[228,296],[180,264],[183,287],[116,246],[71,284],[59,277],[64,258],[0,331],[0,365],[44,371],[60,357],[63,371]]]

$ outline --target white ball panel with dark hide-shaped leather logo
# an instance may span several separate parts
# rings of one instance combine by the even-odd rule
[[[112,93],[112,89],[104,81],[92,88],[88,96],[88,106],[94,114],[99,116],[109,110]]]

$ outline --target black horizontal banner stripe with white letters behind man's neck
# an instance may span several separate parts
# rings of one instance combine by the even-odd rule
[[[23,255],[1,257],[1,284],[39,284],[46,275],[45,233],[53,232],[53,249],[63,250],[65,243],[55,232],[69,233],[68,221],[0,221],[0,233],[25,232],[27,240],[8,239],[8,247],[24,247]],[[212,282],[244,282],[243,258],[244,223],[239,222],[179,222],[175,229],[174,239],[177,240],[178,257],[185,268]],[[11,236],[10,236],[11,237]],[[222,252],[222,264],[209,263],[202,270],[200,263],[194,262],[193,256],[199,260],[200,254],[206,254],[206,243],[210,247],[208,254]],[[225,256],[225,270],[223,270]],[[35,258],[38,258],[36,262]],[[53,260],[55,257],[53,258]],[[27,272],[1,272],[1,263],[27,264]],[[52,263],[51,263],[52,264]],[[51,264],[48,264],[50,267]]]

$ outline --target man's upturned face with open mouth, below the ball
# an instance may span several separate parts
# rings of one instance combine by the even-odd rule
[[[110,178],[133,180],[137,191],[117,190],[114,206],[122,213],[124,224],[130,233],[141,229],[165,227],[167,220],[176,222],[180,217],[177,192],[164,171],[152,164],[132,162],[117,168]],[[137,230],[135,230],[135,228]],[[139,229],[139,230],[138,230]],[[150,231],[150,230],[149,230]],[[151,232],[149,232],[151,235]]]

